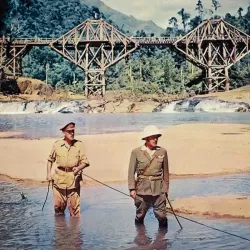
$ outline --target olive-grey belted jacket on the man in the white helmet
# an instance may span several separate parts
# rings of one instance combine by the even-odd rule
[[[157,147],[154,154],[150,154],[145,145],[135,148],[130,156],[128,169],[128,188],[136,190],[140,195],[160,195],[169,190],[168,155],[164,148]],[[151,155],[151,156],[150,156]],[[144,169],[150,164],[144,173]],[[137,180],[135,177],[137,174]],[[139,176],[143,175],[140,178]],[[148,177],[160,177],[150,180]],[[138,178],[139,177],[139,178]]]

